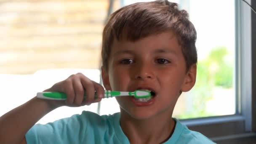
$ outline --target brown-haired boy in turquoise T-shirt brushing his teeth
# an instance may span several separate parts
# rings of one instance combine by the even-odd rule
[[[78,73],[45,91],[67,94],[64,101],[33,98],[0,117],[1,144],[211,144],[172,118],[177,99],[196,80],[196,31],[176,3],[135,3],[113,13],[103,31],[101,76],[106,90],[149,90],[149,99],[117,97],[120,113],[81,115],[34,125],[61,106],[101,101],[104,88]],[[99,98],[94,99],[96,91]],[[83,94],[87,97],[83,100]],[[33,126],[34,125],[34,126]]]

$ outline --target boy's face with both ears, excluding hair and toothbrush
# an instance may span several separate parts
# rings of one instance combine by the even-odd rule
[[[147,89],[155,92],[148,101],[132,96],[116,97],[121,112],[136,119],[171,116],[180,91],[195,84],[196,65],[188,72],[174,32],[150,35],[135,42],[114,40],[109,70],[102,70],[104,86],[112,91]]]

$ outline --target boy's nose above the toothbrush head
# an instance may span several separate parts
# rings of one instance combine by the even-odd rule
[[[152,79],[154,77],[153,68],[150,64],[136,64],[134,78],[138,80]]]

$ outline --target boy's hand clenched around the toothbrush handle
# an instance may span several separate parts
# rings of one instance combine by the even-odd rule
[[[66,80],[54,84],[45,91],[58,91],[67,94],[66,101],[48,100],[52,106],[80,107],[99,102],[104,96],[104,88],[81,73],[69,76]],[[95,91],[97,98],[94,99]],[[86,98],[84,99],[84,93]]]

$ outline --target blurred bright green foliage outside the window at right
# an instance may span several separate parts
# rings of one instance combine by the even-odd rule
[[[213,48],[206,59],[197,63],[197,81],[192,93],[191,108],[179,115],[180,119],[208,117],[216,114],[206,111],[206,103],[213,99],[214,88],[232,88],[233,63],[228,61],[229,51],[225,47]]]

